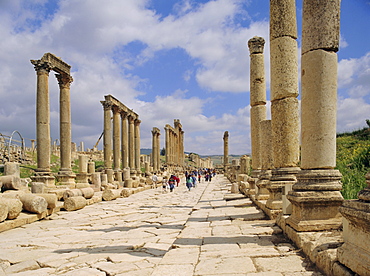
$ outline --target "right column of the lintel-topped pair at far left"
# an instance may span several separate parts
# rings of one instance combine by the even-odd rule
[[[56,74],[60,89],[60,170],[58,181],[62,184],[73,185],[75,175],[72,173],[72,131],[71,131],[71,102],[70,85],[72,77],[67,74]]]

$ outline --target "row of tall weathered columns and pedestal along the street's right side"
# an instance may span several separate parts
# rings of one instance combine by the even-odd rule
[[[359,200],[344,202],[342,175],[335,169],[339,18],[340,0],[303,0],[300,126],[295,1],[270,1],[271,120],[266,120],[265,40],[248,41],[252,173],[247,190],[266,199],[270,217],[287,215],[290,231],[339,229],[343,223],[339,262],[367,275],[370,251],[363,241],[370,240],[370,176]]]

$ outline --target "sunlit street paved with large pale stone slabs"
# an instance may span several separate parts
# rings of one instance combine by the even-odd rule
[[[0,233],[0,275],[322,275],[219,175]]]

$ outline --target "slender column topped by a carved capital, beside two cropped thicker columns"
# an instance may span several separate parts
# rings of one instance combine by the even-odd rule
[[[265,40],[253,37],[248,41],[250,52],[250,105],[252,177],[249,179],[249,193],[255,193],[255,184],[261,172],[260,121],[266,120],[266,82],[263,48]]]

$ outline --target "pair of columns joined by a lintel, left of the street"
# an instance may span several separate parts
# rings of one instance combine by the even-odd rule
[[[71,168],[71,104],[70,75],[71,66],[51,53],[46,53],[39,60],[31,60],[37,74],[36,88],[36,142],[37,169],[32,176],[34,182],[43,182],[54,186],[54,176],[50,171],[50,103],[49,73],[55,71],[60,89],[60,170],[58,181],[62,184],[74,183],[75,175]]]

